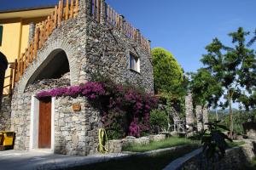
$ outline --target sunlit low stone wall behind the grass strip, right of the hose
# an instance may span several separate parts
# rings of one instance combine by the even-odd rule
[[[165,134],[157,134],[150,135],[147,137],[142,137],[136,139],[135,137],[127,137],[126,139],[120,140],[109,140],[108,141],[108,151],[110,153],[120,153],[122,151],[123,146],[127,146],[129,144],[149,144],[149,142],[160,141],[166,139]]]

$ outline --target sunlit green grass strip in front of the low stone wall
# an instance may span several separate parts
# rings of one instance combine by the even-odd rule
[[[151,142],[147,145],[142,144],[131,144],[123,148],[124,151],[133,152],[145,152],[149,150],[158,150],[163,148],[170,148],[173,146],[183,145],[183,144],[199,144],[197,140],[191,140],[186,138],[171,137],[159,142]]]

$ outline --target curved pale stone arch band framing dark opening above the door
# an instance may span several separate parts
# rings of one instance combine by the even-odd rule
[[[37,59],[34,59],[31,65],[28,66],[26,72],[17,83],[18,93],[23,93],[29,83],[34,82],[38,74],[45,68],[47,64],[55,57],[55,54],[64,51],[67,55],[70,71],[70,83],[75,85],[79,83],[79,67],[77,65],[77,55],[75,54],[75,47],[66,41],[55,40],[45,44],[44,48],[38,52]]]

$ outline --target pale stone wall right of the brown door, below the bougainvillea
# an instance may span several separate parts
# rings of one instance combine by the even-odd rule
[[[72,105],[81,105],[73,111]],[[87,156],[96,153],[99,111],[84,97],[55,100],[55,153]]]

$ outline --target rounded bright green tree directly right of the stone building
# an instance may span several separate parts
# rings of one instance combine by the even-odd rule
[[[164,48],[152,49],[154,91],[156,94],[179,94],[183,91],[183,69]]]

